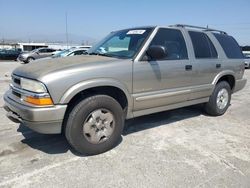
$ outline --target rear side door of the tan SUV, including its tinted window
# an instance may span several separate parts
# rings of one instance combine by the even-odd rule
[[[193,52],[193,88],[189,100],[208,97],[212,82],[222,70],[222,60],[209,36],[204,32],[188,31]]]

